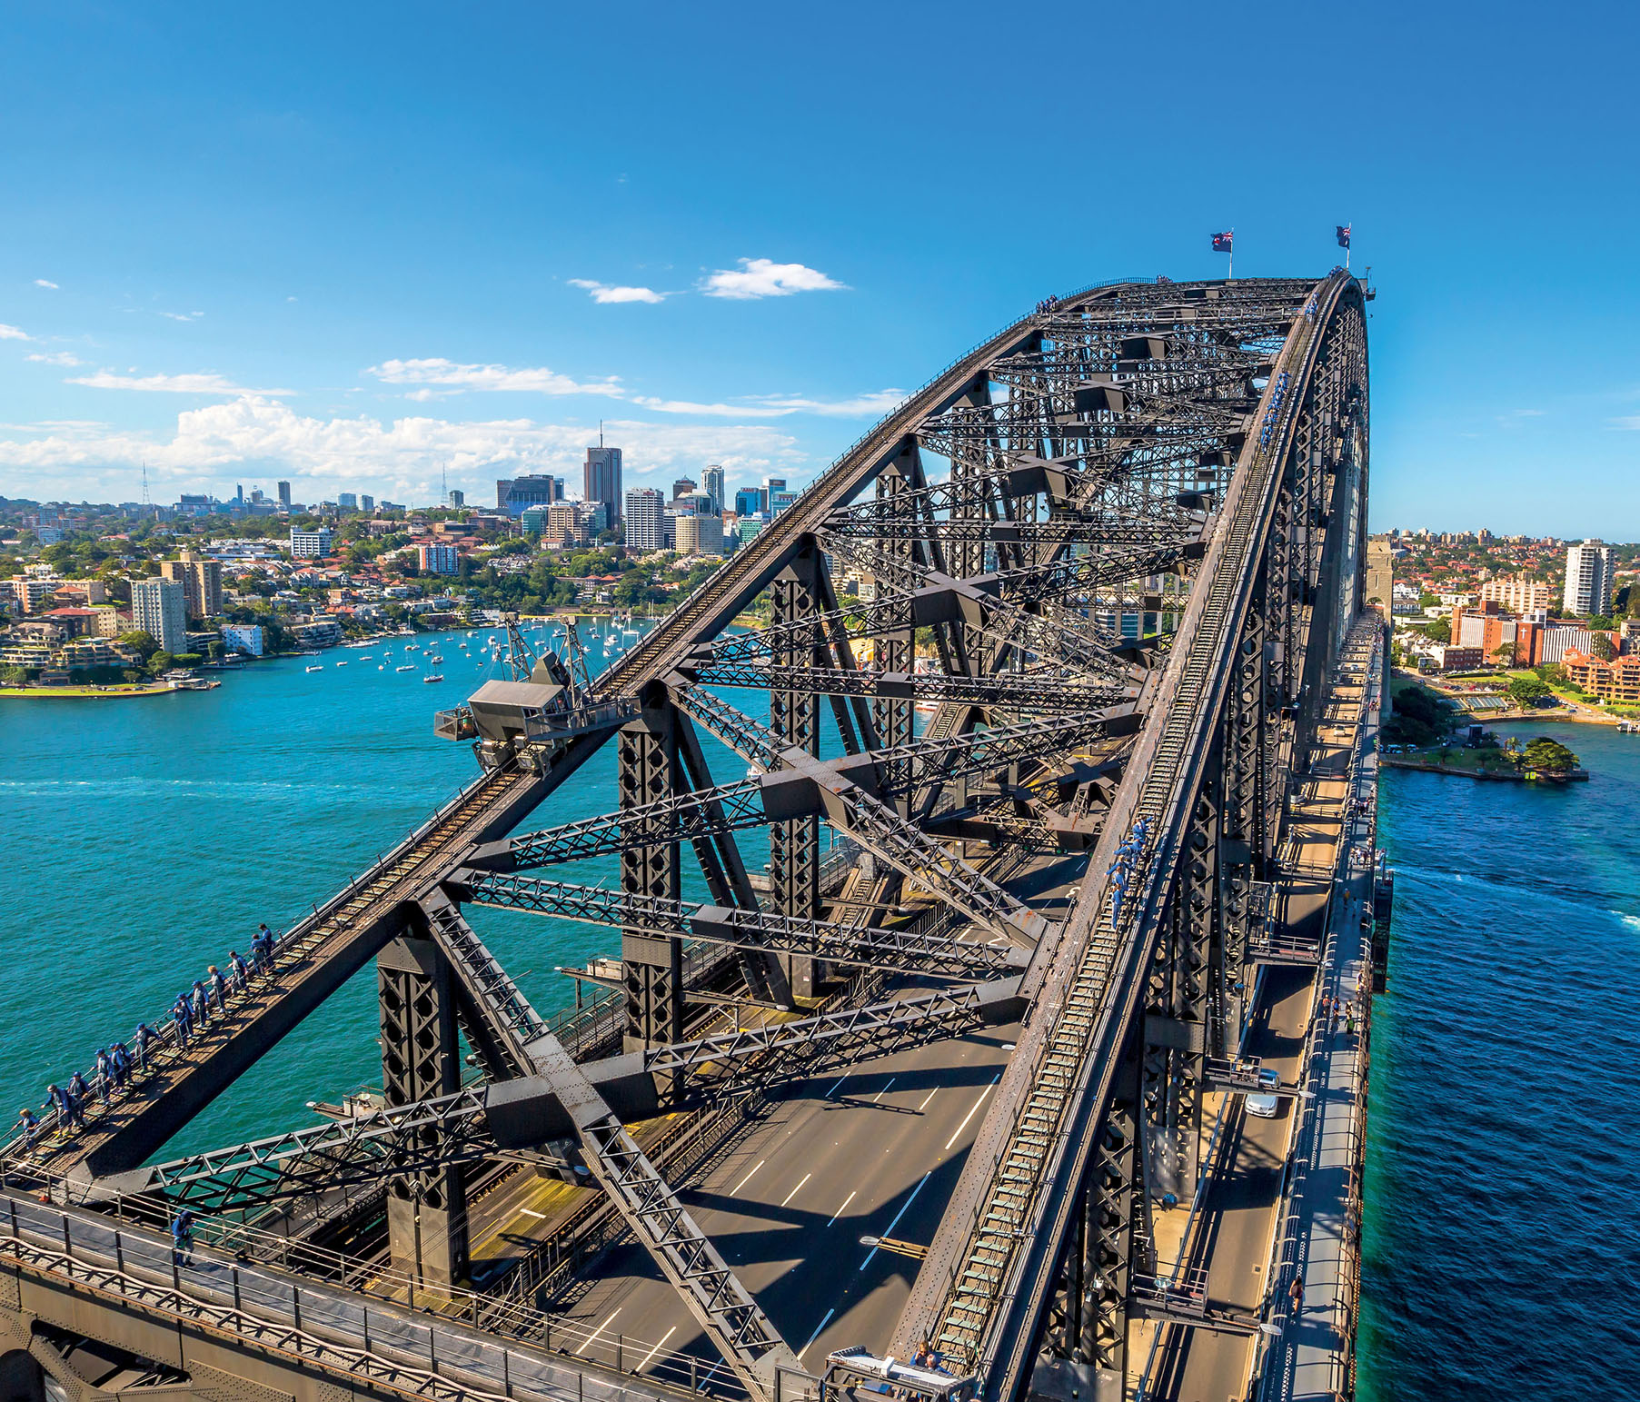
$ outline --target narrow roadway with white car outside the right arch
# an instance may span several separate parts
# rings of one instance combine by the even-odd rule
[[[1307,940],[1323,940],[1330,918],[1335,926],[1353,923],[1353,940],[1360,945],[1360,892],[1340,887],[1333,900],[1333,872],[1346,858],[1350,830],[1355,828],[1351,800],[1358,789],[1351,782],[1351,766],[1360,749],[1376,740],[1376,726],[1369,728],[1363,715],[1368,677],[1350,662],[1346,644],[1345,671],[1328,689],[1327,712],[1310,751],[1310,776],[1302,799],[1294,803],[1292,841],[1284,854],[1289,871],[1325,871],[1327,876],[1289,881],[1281,923],[1287,935]],[[1337,949],[1338,943],[1328,941],[1328,948]],[[1327,972],[1330,976],[1332,971]],[[1261,1007],[1245,1053],[1279,1071],[1284,1084],[1302,1084],[1310,1066],[1310,1040],[1322,1031],[1317,1007],[1320,982],[1314,969],[1281,966],[1266,966],[1261,982]],[[1273,1243],[1284,1209],[1287,1163],[1302,1105],[1282,1097],[1278,1115],[1266,1120],[1248,1115],[1241,1102],[1243,1097],[1235,1095],[1227,1105],[1202,1217],[1187,1238],[1189,1264],[1205,1264],[1207,1295],[1215,1307],[1260,1315],[1286,1328],[1287,1300],[1281,1295],[1286,1277],[1274,1269]],[[1337,1210],[1343,1213],[1342,1202]],[[1278,1279],[1271,1279],[1273,1274]],[[1245,1395],[1256,1358],[1256,1336],[1176,1325],[1151,1325],[1146,1335],[1156,1328],[1161,1340],[1151,1356],[1145,1399],[1196,1402],[1202,1397]],[[1137,1356],[1145,1358],[1138,1351]]]

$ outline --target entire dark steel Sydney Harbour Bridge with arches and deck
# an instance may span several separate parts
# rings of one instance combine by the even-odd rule
[[[471,785],[7,1145],[0,1402],[1159,1397],[1207,1336],[1276,1395],[1281,1251],[1220,1299],[1204,1223],[1360,859],[1368,298],[1048,298],[602,676],[515,636]],[[576,1007],[471,907],[605,926]],[[166,1156],[371,961],[377,1095]]]

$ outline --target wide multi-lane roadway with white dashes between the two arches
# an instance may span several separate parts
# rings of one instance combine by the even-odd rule
[[[1004,887],[1058,918],[1081,864],[1076,856],[1041,858]],[[891,1223],[895,1240],[933,1238],[1015,1030],[981,1028],[795,1081],[677,1184],[690,1215],[805,1364],[835,1346],[887,1348],[917,1263],[872,1253],[859,1238],[891,1235]],[[474,1274],[548,1240],[585,1197],[515,1174],[472,1207]],[[631,1335],[622,1350],[628,1369],[651,1346],[663,1350],[654,1363],[667,1372],[677,1353],[702,1359],[702,1379],[717,1363],[677,1292],[630,1238],[600,1259],[595,1281],[551,1307],[582,1327],[589,1356]],[[727,1369],[718,1379],[728,1379]]]

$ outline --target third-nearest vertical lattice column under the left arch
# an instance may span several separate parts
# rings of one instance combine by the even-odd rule
[[[787,641],[774,648],[772,662],[777,667],[830,666],[830,649],[815,617],[820,607],[820,562],[813,541],[804,553],[782,569],[769,585],[772,607],[771,623],[809,623],[812,636],[805,641]],[[776,633],[776,636],[781,636]],[[769,728],[794,749],[820,754],[818,697],[807,690],[769,692]],[[786,818],[769,825],[769,885],[774,908],[781,915],[804,920],[820,917],[820,818]],[[787,977],[795,997],[813,997],[820,969],[802,954],[787,961]]]

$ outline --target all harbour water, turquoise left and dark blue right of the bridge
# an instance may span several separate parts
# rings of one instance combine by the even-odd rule
[[[471,779],[471,751],[436,740],[431,713],[500,676],[477,664],[487,631],[472,659],[466,635],[438,635],[436,685],[394,671],[405,640],[389,640],[390,658],[259,662],[212,692],[0,702],[0,1084],[38,1104],[259,920],[289,925]],[[1384,779],[1397,908],[1373,1035],[1371,1402],[1640,1395],[1640,738],[1522,731],[1571,744],[1594,781]],[[745,772],[710,758],[723,782]],[[607,746],[536,825],[600,812],[612,779]],[[745,853],[766,859],[756,838]],[[554,966],[617,948],[610,931],[471,915],[543,1012],[574,1000]],[[313,1123],[307,1100],[379,1084],[374,1018],[366,967],[174,1149]]]

